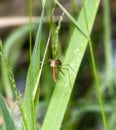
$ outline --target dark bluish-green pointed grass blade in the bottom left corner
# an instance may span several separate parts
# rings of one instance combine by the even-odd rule
[[[2,115],[4,118],[6,130],[15,130],[15,124],[10,116],[10,113],[8,111],[8,108],[4,102],[3,97],[0,94],[0,109],[2,111]]]

